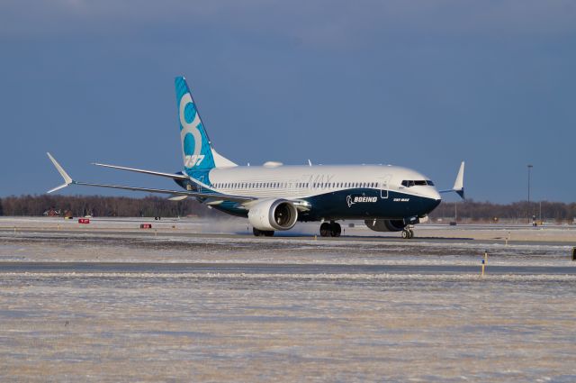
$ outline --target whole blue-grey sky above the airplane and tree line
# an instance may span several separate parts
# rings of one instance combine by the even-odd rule
[[[507,203],[576,198],[576,2],[4,1],[0,196],[176,187],[174,78],[239,163],[392,163]],[[69,188],[67,194],[110,194]],[[119,192],[121,193],[121,192]],[[123,194],[123,193],[122,193]],[[131,194],[139,196],[138,194]]]

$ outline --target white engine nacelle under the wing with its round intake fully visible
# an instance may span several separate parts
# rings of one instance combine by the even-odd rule
[[[258,230],[290,230],[296,224],[298,210],[285,199],[269,199],[248,211],[248,222]]]

